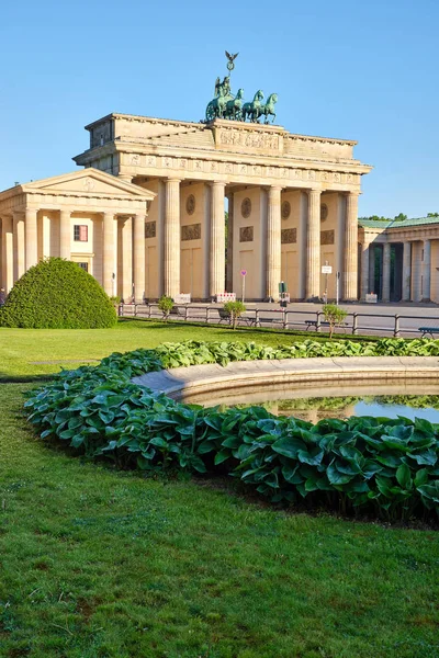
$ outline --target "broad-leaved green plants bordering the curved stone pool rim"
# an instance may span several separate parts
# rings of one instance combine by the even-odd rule
[[[396,350],[399,342],[389,340],[385,344]],[[407,344],[415,350],[418,342]],[[375,344],[384,349],[384,341]],[[353,417],[313,426],[278,418],[263,407],[183,405],[131,382],[133,375],[181,361],[268,359],[272,351],[275,358],[291,356],[294,347],[299,343],[272,349],[190,341],[115,353],[98,366],[61,373],[33,392],[25,406],[42,439],[60,440],[78,455],[106,457],[123,468],[219,469],[273,502],[306,499],[315,508],[361,510],[391,521],[437,517],[439,426],[427,420]],[[435,351],[438,342],[423,341],[423,347]]]

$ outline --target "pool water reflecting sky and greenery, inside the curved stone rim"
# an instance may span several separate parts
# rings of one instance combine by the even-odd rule
[[[206,407],[262,405],[278,416],[295,416],[311,422],[323,418],[349,418],[373,416],[397,418],[425,418],[439,423],[439,385],[412,384],[361,384],[360,382],[335,387],[302,385],[297,388],[267,388],[258,393],[223,393],[215,400],[194,396],[190,401]]]

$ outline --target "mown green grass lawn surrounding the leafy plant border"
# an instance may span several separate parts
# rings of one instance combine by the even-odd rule
[[[0,370],[237,336],[255,339],[148,322],[0,330]],[[32,434],[31,386],[0,385],[1,658],[439,657],[434,531],[275,511],[232,479],[83,463]]]

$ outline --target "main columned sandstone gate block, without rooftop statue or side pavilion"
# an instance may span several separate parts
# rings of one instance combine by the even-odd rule
[[[87,129],[90,148],[77,164],[156,194],[145,250],[134,253],[146,298],[238,292],[246,270],[248,298],[275,298],[284,281],[292,299],[313,299],[324,290],[325,262],[341,273],[342,298],[358,298],[358,196],[371,167],[353,158],[356,141],[125,114]]]

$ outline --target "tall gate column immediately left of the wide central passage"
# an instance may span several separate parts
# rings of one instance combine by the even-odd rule
[[[221,181],[212,184],[211,205],[211,245],[209,260],[209,295],[214,297],[224,293],[226,262],[225,262],[225,224],[224,224],[224,188]]]

